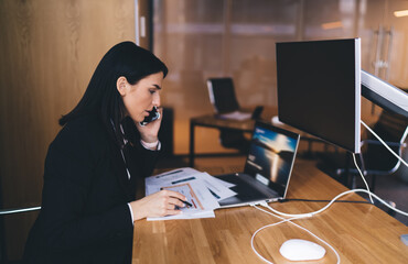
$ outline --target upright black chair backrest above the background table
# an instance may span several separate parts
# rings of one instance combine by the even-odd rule
[[[210,101],[216,113],[239,110],[232,78],[210,78],[207,80]]]

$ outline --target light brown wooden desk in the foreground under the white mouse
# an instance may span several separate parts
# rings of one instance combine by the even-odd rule
[[[288,198],[332,199],[344,190],[337,182],[299,161]],[[347,199],[362,200],[354,194]],[[303,201],[270,205],[289,213],[314,211],[325,206]],[[215,216],[213,219],[137,221],[132,263],[262,263],[251,251],[250,238],[257,229],[278,219],[250,207],[219,209]],[[337,202],[321,215],[296,223],[334,246],[341,263],[408,263],[408,246],[399,239],[408,233],[408,227],[372,205]],[[316,242],[304,231],[283,223],[258,233],[255,246],[273,263],[293,263],[278,251],[286,240],[293,238]],[[325,249],[326,255],[318,263],[336,263],[334,253]]]

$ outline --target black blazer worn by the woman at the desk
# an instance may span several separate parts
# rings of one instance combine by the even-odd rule
[[[151,175],[158,152],[140,145],[131,121],[125,128],[133,133],[125,151],[130,180],[119,146],[96,116],[71,121],[51,143],[42,209],[24,263],[130,263],[133,224],[127,202],[135,200],[136,177]]]

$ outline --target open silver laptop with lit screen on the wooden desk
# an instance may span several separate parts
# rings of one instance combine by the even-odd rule
[[[284,199],[300,135],[260,121],[255,123],[243,173],[217,175],[235,186],[236,196],[218,201],[221,208]]]

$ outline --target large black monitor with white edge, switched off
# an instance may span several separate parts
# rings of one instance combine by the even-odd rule
[[[359,38],[277,43],[279,120],[359,153]]]

